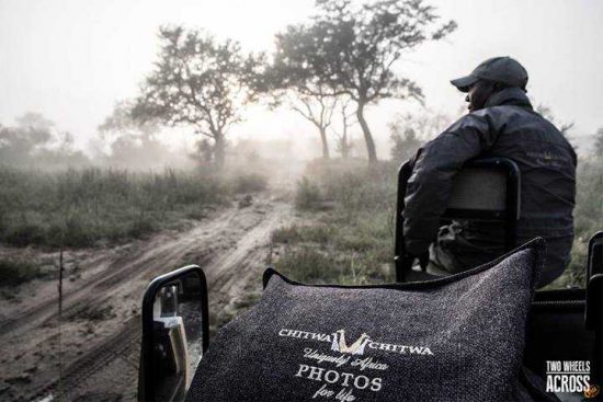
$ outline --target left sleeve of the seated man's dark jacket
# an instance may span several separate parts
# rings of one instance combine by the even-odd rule
[[[493,145],[498,136],[493,126],[483,110],[474,112],[419,150],[402,214],[407,252],[419,255],[429,250],[437,236],[454,174],[463,163]]]

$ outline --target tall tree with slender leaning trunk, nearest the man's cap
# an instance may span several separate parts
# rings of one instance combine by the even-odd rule
[[[394,66],[405,51],[445,37],[456,23],[437,24],[434,8],[422,0],[377,0],[360,7],[351,0],[318,0],[317,4],[320,12],[306,27],[308,38],[291,56],[300,66],[293,77],[326,84],[332,95],[345,94],[356,103],[368,160],[374,163],[377,153],[366,107],[388,97],[421,100],[421,89],[395,73]]]

